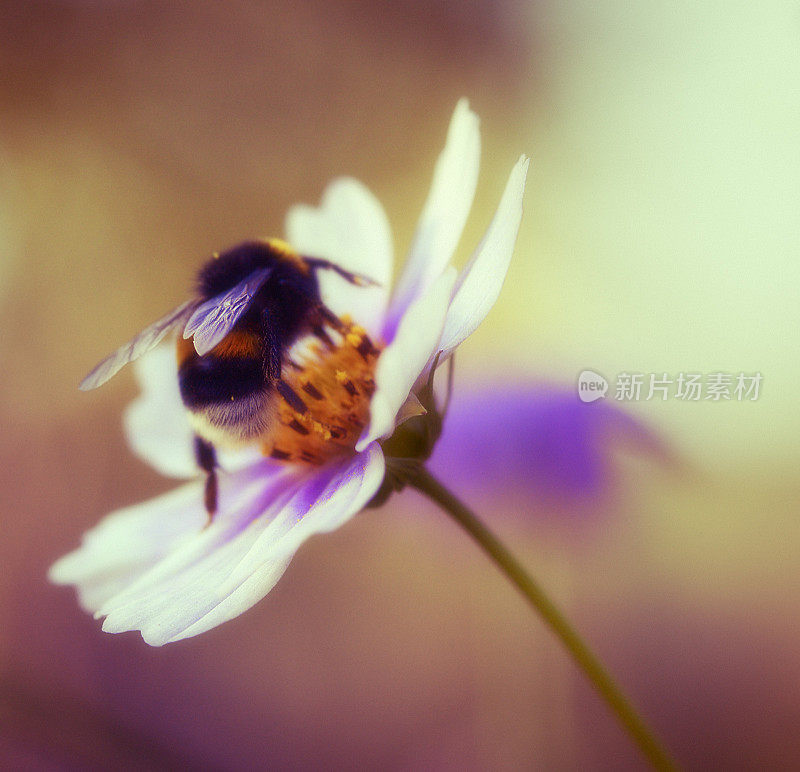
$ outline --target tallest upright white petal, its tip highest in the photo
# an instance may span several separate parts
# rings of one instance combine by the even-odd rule
[[[406,308],[442,273],[461,238],[478,183],[481,139],[478,116],[466,99],[456,105],[445,148],[417,224],[403,274],[390,307],[385,340],[391,340]]]

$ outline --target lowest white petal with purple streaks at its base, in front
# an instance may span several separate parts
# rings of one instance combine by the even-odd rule
[[[159,646],[238,616],[272,589],[303,541],[338,528],[369,501],[384,464],[375,444],[339,465],[282,470],[266,480],[231,476],[238,482],[211,526],[104,604],[103,629],[141,630]]]

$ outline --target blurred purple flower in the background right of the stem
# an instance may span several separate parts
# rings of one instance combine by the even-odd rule
[[[653,433],[608,402],[574,388],[487,386],[456,392],[431,469],[459,492],[575,502],[612,482],[612,445],[664,454]]]

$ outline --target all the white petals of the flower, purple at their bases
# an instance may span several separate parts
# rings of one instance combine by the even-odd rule
[[[50,570],[52,581],[77,587],[87,611],[105,617],[103,630],[140,630],[160,646],[216,627],[264,597],[309,536],[338,528],[372,499],[385,472],[381,440],[413,406],[415,383],[437,353],[446,357],[486,316],[508,269],[522,216],[524,156],[465,269],[457,277],[449,267],[472,204],[479,154],[478,119],[461,100],[391,298],[389,224],[363,185],[338,179],[318,208],[289,212],[288,241],[301,254],[323,255],[379,282],[353,287],[330,272],[320,275],[326,304],[385,346],[368,423],[349,454],[323,466],[280,463],[255,451],[223,454],[227,473],[207,528],[199,479],[106,517]],[[142,395],[125,416],[133,450],[164,474],[197,476],[174,352],[156,349],[136,372]]]

